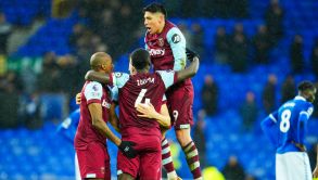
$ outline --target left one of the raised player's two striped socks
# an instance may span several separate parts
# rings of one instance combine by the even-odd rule
[[[168,179],[177,177],[177,172],[175,170],[173,158],[171,158],[170,145],[166,138],[162,140],[162,159],[163,159],[163,166],[167,171]]]

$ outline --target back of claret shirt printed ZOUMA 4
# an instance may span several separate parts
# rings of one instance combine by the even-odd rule
[[[153,119],[137,116],[136,106],[150,102],[157,112],[161,111],[165,83],[157,73],[130,75],[123,87],[119,87],[119,123],[123,136],[143,133],[161,136],[160,125]]]

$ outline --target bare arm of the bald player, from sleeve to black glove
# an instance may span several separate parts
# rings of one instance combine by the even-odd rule
[[[117,146],[122,143],[120,139],[116,137],[112,130],[109,128],[106,123],[102,118],[102,106],[100,103],[91,103],[88,105],[91,119],[92,119],[92,126],[97,128],[103,136],[105,136],[107,139],[110,139],[112,142],[114,142]]]

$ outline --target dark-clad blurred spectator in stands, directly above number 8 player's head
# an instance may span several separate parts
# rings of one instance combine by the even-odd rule
[[[303,37],[295,35],[290,47],[290,60],[293,74],[300,74],[304,69]]]

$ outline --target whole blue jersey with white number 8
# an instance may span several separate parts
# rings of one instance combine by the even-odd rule
[[[295,97],[262,121],[264,132],[277,147],[278,154],[298,152],[295,143],[304,144],[307,121],[314,106],[303,97]]]

